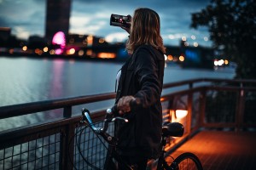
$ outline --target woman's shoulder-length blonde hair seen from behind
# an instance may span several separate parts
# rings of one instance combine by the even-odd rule
[[[150,8],[137,8],[134,11],[126,49],[129,54],[133,54],[135,48],[142,44],[151,45],[166,53],[163,39],[160,36],[160,17]]]

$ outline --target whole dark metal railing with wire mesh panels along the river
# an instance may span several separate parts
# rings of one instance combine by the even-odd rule
[[[185,134],[175,142],[170,139],[166,150],[174,150],[202,128],[251,130],[256,127],[255,80],[193,79],[164,85],[182,90],[162,95],[164,122],[181,122]],[[63,118],[0,132],[0,169],[89,169],[80,151],[88,159],[96,156],[95,164],[102,167],[106,149],[95,134],[80,127],[81,116],[73,116],[75,105],[114,99],[115,94],[98,94],[67,99],[54,99],[21,105],[0,107],[0,119],[33,114],[38,111],[63,109]],[[178,117],[176,110],[188,111]],[[99,124],[105,111],[91,116]],[[109,129],[113,133],[113,126]],[[81,136],[78,143],[78,134]],[[82,150],[77,149],[80,144]]]

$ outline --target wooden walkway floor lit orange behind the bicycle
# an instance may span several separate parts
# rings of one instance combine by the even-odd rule
[[[201,131],[171,156],[192,152],[204,170],[255,170],[256,132]]]

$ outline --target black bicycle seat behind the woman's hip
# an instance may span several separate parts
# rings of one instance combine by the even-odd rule
[[[184,133],[184,127],[179,122],[167,122],[162,127],[163,137],[173,136],[181,137]]]

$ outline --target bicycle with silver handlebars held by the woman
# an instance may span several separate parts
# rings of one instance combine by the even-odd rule
[[[93,131],[93,133],[96,133],[97,138],[102,137],[104,139],[103,141],[108,143],[108,153],[105,159],[104,163],[104,169],[105,170],[114,170],[119,169],[119,165],[122,165],[124,170],[136,170],[136,167],[130,166],[125,163],[119,156],[118,152],[116,151],[117,148],[117,139],[107,133],[108,130],[108,124],[109,122],[115,122],[115,121],[122,121],[122,122],[128,122],[127,119],[122,117],[113,117],[113,111],[116,110],[114,107],[112,109],[107,110],[107,114],[104,120],[103,127],[96,127],[94,123],[90,119],[90,111],[83,109],[82,110],[82,121],[80,123],[84,124],[86,127],[90,127],[90,129]],[[162,127],[162,151],[160,154],[160,157],[157,161],[157,170],[182,170],[182,169],[197,169],[202,170],[203,167],[201,165],[201,161],[195,154],[190,152],[185,152],[179,156],[177,156],[176,159],[174,159],[171,163],[168,163],[165,159],[165,146],[166,146],[166,139],[168,137],[181,137],[183,136],[184,127],[182,124],[178,122],[166,122]],[[102,141],[101,139],[101,141]],[[80,140],[80,136],[79,136]],[[102,141],[102,143],[103,143]],[[80,144],[77,144],[79,154],[83,157],[84,161],[93,169],[100,170],[99,167],[96,167],[95,165],[92,165],[89,161],[86,160],[86,158],[83,156],[83,153],[80,151]],[[106,146],[107,147],[107,146]],[[77,168],[75,168],[77,169]],[[123,170],[123,169],[122,169]]]

